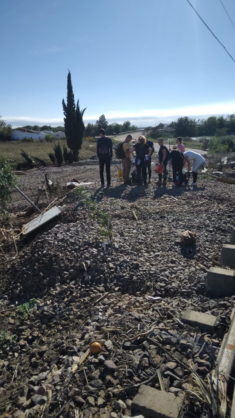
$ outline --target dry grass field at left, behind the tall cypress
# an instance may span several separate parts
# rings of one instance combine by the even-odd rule
[[[21,141],[12,141],[12,142],[0,142],[0,151],[6,155],[7,158],[14,160],[16,163],[23,163],[25,160],[20,155],[21,150],[28,152],[29,156],[38,157],[50,163],[51,160],[47,153],[53,152],[54,144],[58,140],[53,142],[21,142]],[[59,140],[61,148],[63,145],[66,145],[65,140]],[[96,155],[96,144],[95,143],[84,143],[80,151],[80,156],[83,159],[89,159],[90,155]]]

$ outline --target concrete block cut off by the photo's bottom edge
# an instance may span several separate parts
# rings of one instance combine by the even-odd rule
[[[130,409],[132,413],[141,413],[145,418],[178,418],[182,403],[173,393],[141,385]]]

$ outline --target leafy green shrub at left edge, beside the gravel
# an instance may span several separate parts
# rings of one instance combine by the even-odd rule
[[[4,154],[0,152],[0,216],[7,214],[6,207],[10,201],[11,188],[16,184],[13,174],[13,165],[9,163]]]

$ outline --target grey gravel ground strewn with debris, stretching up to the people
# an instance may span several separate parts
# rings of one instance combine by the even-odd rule
[[[199,176],[197,188],[158,187],[155,174],[149,186],[124,186],[112,167],[112,188],[99,194],[98,164],[89,161],[31,171],[19,176],[19,188],[36,199],[44,173],[61,187],[72,177],[93,182],[87,190],[110,214],[113,240],[101,245],[91,206],[76,191],[61,191],[61,216],[18,243],[0,308],[24,308],[0,317],[1,412],[128,416],[141,383],[160,390],[157,370],[164,388],[183,399],[192,389],[190,367],[202,378],[214,367],[235,303],[204,289],[207,270],[219,266],[221,247],[230,241],[234,186]],[[12,212],[26,206],[14,192]],[[179,240],[186,229],[196,233],[196,244]],[[36,301],[26,306],[31,298]],[[182,324],[186,308],[216,316],[215,333]],[[79,365],[92,342],[102,351],[89,351]],[[200,416],[203,405],[187,408],[185,417]]]

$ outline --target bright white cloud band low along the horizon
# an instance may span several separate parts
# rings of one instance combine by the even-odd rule
[[[179,107],[171,109],[140,109],[136,112],[128,112],[122,110],[111,110],[105,113],[106,119],[112,123],[121,123],[124,120],[130,120],[131,123],[141,126],[155,125],[159,122],[168,123],[172,120],[176,120],[181,116],[189,116],[195,119],[202,119],[210,115],[228,115],[235,112],[235,101],[230,103],[218,103],[218,104],[203,104],[199,106]],[[100,115],[85,115],[84,122],[96,122]],[[19,125],[49,125],[57,126],[63,125],[64,119],[48,118],[48,117],[28,117],[28,116],[17,116],[17,117],[4,117],[6,122],[11,123],[13,127]]]

